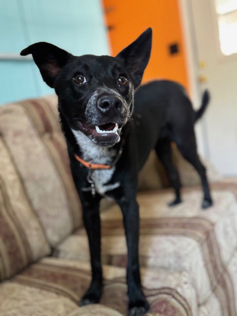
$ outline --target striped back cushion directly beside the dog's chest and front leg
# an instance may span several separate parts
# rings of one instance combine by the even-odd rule
[[[56,111],[56,96],[0,107],[0,135],[52,246],[81,225],[79,197]]]

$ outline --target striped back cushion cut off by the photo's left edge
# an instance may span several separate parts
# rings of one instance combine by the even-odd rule
[[[4,279],[51,250],[1,138],[0,166],[0,279]]]

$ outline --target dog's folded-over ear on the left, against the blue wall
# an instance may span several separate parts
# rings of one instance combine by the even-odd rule
[[[53,88],[53,83],[60,69],[66,65],[72,54],[55,45],[39,42],[23,49],[22,56],[32,54],[35,63],[40,69],[43,80]]]

